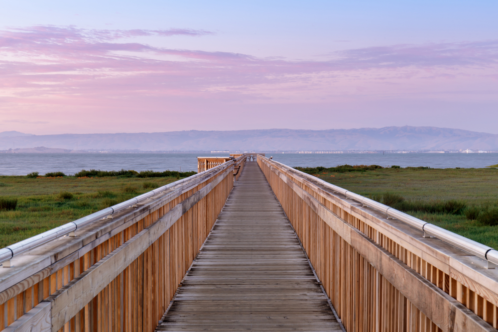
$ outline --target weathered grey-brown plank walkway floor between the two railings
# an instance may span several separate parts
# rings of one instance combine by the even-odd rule
[[[255,162],[156,331],[342,331]]]

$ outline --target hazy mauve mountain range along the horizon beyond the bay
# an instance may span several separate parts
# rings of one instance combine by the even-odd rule
[[[145,151],[498,150],[498,135],[461,129],[412,126],[58,135],[0,132],[0,150],[34,147],[68,150],[59,150],[59,152],[133,149]],[[39,152],[43,151],[37,149]]]

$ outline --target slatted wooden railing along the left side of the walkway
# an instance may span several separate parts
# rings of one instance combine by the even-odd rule
[[[222,164],[13,257],[0,268],[0,331],[154,331],[233,174]]]

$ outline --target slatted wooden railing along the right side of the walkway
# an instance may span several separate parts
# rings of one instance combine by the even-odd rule
[[[346,331],[496,331],[487,262],[258,156]]]

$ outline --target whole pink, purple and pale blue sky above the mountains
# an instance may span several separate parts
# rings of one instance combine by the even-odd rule
[[[495,0],[0,0],[0,131],[498,133],[497,16]]]

